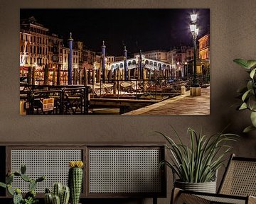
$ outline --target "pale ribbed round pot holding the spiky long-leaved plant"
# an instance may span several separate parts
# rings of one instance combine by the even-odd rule
[[[186,191],[195,191],[203,193],[216,193],[216,181],[210,181],[206,183],[187,183],[181,181],[175,181],[174,186]]]

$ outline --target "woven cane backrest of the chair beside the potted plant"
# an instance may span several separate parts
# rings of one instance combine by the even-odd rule
[[[256,159],[231,155],[218,193],[256,196]]]

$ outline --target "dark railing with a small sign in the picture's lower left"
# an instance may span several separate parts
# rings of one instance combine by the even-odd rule
[[[21,85],[20,98],[25,101],[27,115],[41,114],[88,114],[90,106],[90,86],[31,86]],[[44,104],[52,98],[50,111]]]

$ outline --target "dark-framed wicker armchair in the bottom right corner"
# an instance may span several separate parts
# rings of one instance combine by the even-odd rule
[[[172,204],[197,203],[256,203],[256,159],[232,154],[220,183],[218,193],[198,193],[174,188]]]

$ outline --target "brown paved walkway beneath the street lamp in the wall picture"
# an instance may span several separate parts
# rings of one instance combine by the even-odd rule
[[[202,96],[192,97],[189,91],[181,96],[169,98],[124,115],[209,115],[210,86],[202,88]]]

